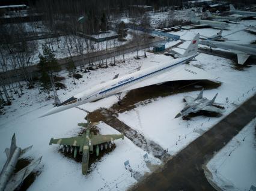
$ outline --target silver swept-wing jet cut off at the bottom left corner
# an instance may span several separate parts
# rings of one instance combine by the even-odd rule
[[[19,160],[19,157],[22,157],[26,151],[30,150],[32,145],[21,149],[16,146],[16,138],[15,134],[11,138],[11,147],[5,148],[5,154],[7,157],[7,161],[4,164],[4,168],[2,168],[0,174],[0,191],[7,190],[12,191],[22,184],[26,177],[32,172],[32,170],[39,165],[41,162],[41,158],[32,161],[28,166],[21,169],[19,172],[14,173],[15,166]]]

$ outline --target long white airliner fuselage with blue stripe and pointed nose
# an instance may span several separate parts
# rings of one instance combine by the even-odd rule
[[[48,116],[53,113],[58,113],[59,111],[64,111],[72,107],[77,107],[78,105],[86,104],[87,102],[92,102],[111,95],[115,95],[116,93],[122,92],[122,90],[126,89],[126,87],[129,87],[147,78],[153,77],[154,75],[168,71],[169,69],[175,68],[176,66],[193,59],[195,56],[197,56],[197,54],[193,54],[192,56],[187,57],[180,57],[178,59],[174,59],[166,63],[160,63],[159,65],[151,66],[149,68],[133,72],[132,74],[127,74],[123,77],[109,80],[105,83],[91,87],[84,92],[78,93],[59,106],[52,108],[52,110],[48,111],[43,116]]]

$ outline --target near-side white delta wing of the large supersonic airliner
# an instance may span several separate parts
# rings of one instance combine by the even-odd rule
[[[153,84],[161,84],[166,81],[178,80],[215,80],[215,77],[200,68],[183,64],[159,75],[154,75],[153,77],[132,84],[131,86],[122,89],[120,92],[151,86]]]

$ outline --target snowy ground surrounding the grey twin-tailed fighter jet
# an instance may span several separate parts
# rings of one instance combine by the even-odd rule
[[[200,68],[218,77],[218,81],[222,83],[218,89],[205,90],[204,96],[212,99],[218,92],[216,102],[224,104],[223,106],[226,108],[224,116],[236,108],[234,104],[240,105],[256,92],[256,87],[254,87],[256,85],[255,65],[245,71],[236,71],[231,68],[231,62],[228,59],[208,54],[199,54],[196,59],[197,61],[192,61],[190,64],[200,65]],[[196,97],[200,90],[201,87],[198,88],[198,92],[179,93],[165,98],[159,97],[150,100],[148,104],[141,102],[134,110],[119,114],[118,119],[138,130],[150,140],[154,140],[163,148],[168,148],[170,154],[175,154],[224,117],[198,116],[189,121],[184,121],[181,118],[174,119],[185,106],[183,96]],[[228,103],[226,103],[226,98],[228,98]],[[160,112],[155,112],[156,108]]]

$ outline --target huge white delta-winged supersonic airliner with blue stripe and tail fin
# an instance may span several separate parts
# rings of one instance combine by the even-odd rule
[[[184,54],[178,59],[170,60],[165,63],[147,63],[147,65],[142,65],[139,71],[106,81],[105,83],[98,84],[97,86],[93,86],[90,89],[78,93],[52,108],[52,110],[49,110],[41,117],[77,107],[87,102],[96,101],[97,99],[106,98],[120,92],[153,84],[162,84],[166,81],[214,80],[212,75],[207,74],[203,70],[185,64],[198,55],[199,37],[199,34],[194,37]]]

